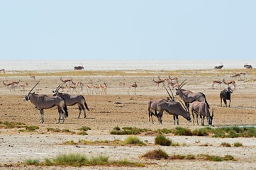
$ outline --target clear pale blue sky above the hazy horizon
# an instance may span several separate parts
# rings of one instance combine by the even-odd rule
[[[251,60],[255,0],[0,0],[0,60]]]

